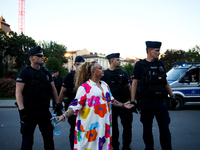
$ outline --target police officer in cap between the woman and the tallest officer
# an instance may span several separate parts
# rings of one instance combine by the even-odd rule
[[[107,55],[110,63],[110,68],[104,71],[104,77],[101,80],[105,81],[111,90],[114,98],[119,102],[130,101],[130,84],[128,75],[125,71],[119,69],[120,67],[120,54],[112,53]],[[118,116],[121,118],[123,126],[123,150],[130,150],[130,143],[132,139],[132,121],[133,115],[130,109],[124,109],[112,106],[112,147],[114,150],[119,150],[119,129],[118,129]]]

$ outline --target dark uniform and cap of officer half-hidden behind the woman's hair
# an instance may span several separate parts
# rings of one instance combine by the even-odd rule
[[[76,62],[84,62],[85,60],[83,59],[82,56],[77,56],[75,58],[75,63]],[[68,105],[72,102],[72,100],[75,98],[76,93],[74,91],[74,77],[75,77],[75,71],[70,71],[65,76],[64,82],[62,84],[63,87],[67,89],[66,91],[66,97],[68,98],[65,102],[65,111],[68,109]],[[68,123],[70,124],[70,134],[69,134],[69,140],[70,140],[70,147],[73,150],[74,149],[74,131],[75,131],[75,126],[76,126],[76,115],[72,115],[68,117]]]

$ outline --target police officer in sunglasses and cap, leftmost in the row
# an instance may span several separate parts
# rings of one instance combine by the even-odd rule
[[[16,100],[22,134],[21,150],[32,149],[36,125],[42,133],[44,149],[54,150],[49,106],[51,94],[58,102],[57,91],[51,73],[41,66],[44,63],[41,47],[30,49],[27,55],[31,65],[24,67],[16,79]]]

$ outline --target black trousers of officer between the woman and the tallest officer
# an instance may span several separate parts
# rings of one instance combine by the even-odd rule
[[[131,110],[126,108],[119,108],[112,106],[112,147],[119,149],[119,129],[118,129],[118,117],[121,119],[123,126],[123,148],[129,147],[132,140],[132,121],[133,114]]]

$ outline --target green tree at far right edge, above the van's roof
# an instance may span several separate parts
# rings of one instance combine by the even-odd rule
[[[194,48],[185,52],[185,57],[188,62],[200,62],[200,47],[196,45]]]

